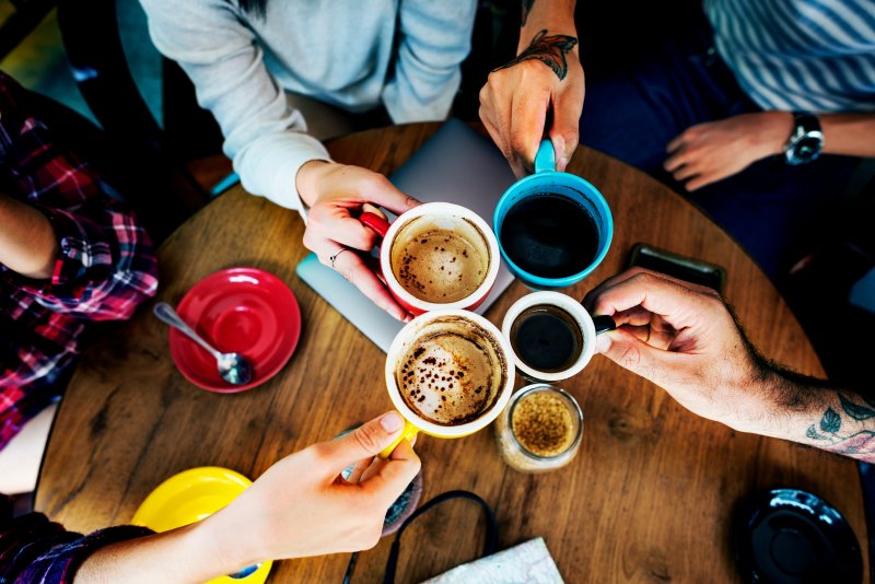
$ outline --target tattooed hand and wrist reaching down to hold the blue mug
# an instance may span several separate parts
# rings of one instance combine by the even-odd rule
[[[521,3],[517,56],[492,71],[480,90],[480,119],[517,176],[532,171],[545,135],[556,148],[558,168],[564,170],[578,148],[584,94],[575,1]]]

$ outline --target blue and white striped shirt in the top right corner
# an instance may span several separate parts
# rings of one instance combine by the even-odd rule
[[[875,112],[875,0],[705,0],[718,52],[763,109]]]

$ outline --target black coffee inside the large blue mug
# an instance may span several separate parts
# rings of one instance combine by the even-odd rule
[[[501,244],[520,268],[541,278],[585,270],[598,250],[590,213],[567,197],[541,192],[517,202],[501,225]]]

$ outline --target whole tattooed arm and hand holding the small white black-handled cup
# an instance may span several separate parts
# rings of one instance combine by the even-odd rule
[[[596,350],[693,413],[875,462],[875,399],[766,361],[713,290],[634,268],[584,303],[618,325],[598,337]]]

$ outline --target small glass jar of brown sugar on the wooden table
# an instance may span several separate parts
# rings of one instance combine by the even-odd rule
[[[581,407],[553,385],[523,387],[495,420],[499,452],[511,468],[522,472],[565,466],[578,454],[582,436]]]

